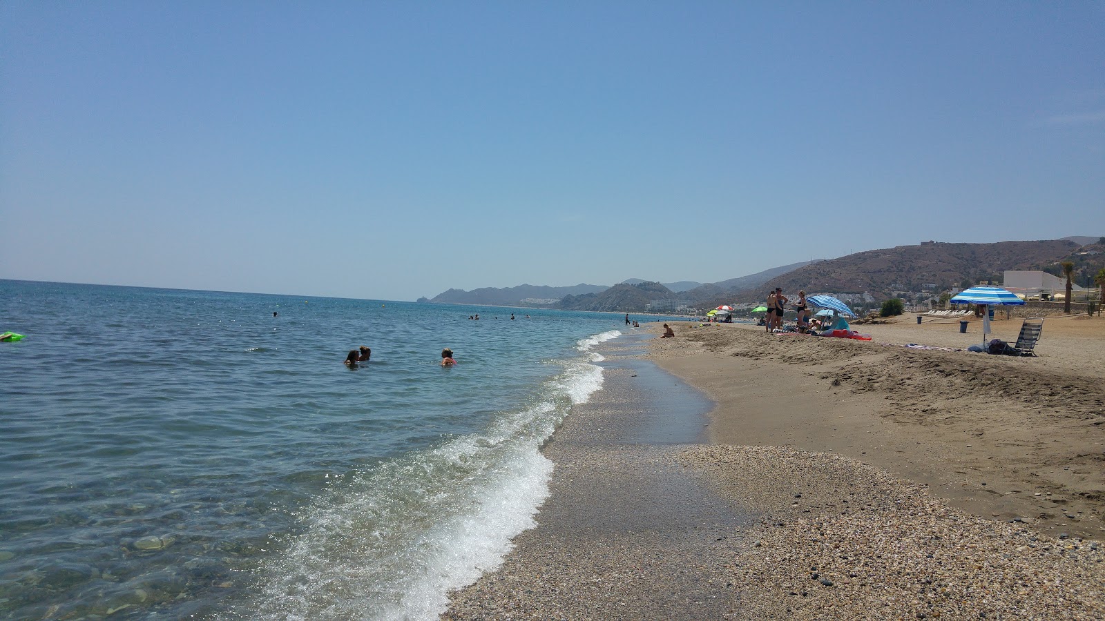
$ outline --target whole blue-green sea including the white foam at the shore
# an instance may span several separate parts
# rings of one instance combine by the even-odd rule
[[[643,331],[0,281],[7,330],[0,619],[59,620],[435,619],[534,526],[540,449],[602,387],[597,346]]]

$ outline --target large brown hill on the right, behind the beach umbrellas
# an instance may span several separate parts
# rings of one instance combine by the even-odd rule
[[[1067,240],[998,243],[926,242],[857,252],[799,267],[772,280],[788,296],[807,293],[870,293],[890,297],[896,291],[919,292],[926,284],[938,288],[1001,282],[1006,270],[1043,270],[1078,250]],[[762,287],[737,292],[736,301],[762,299]]]

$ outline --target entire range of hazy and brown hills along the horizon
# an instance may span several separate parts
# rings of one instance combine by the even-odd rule
[[[470,292],[449,290],[432,299],[439,304],[544,306],[575,310],[640,312],[654,301],[685,303],[699,308],[718,304],[762,301],[767,284],[788,294],[869,293],[885,299],[898,292],[944,291],[979,282],[1000,283],[1007,270],[1042,270],[1061,274],[1060,264],[1074,263],[1075,282],[1092,285],[1105,269],[1105,238],[996,243],[923,242],[870,250],[832,260],[780,265],[717,283],[649,282],[629,278],[613,286],[579,284],[570,287],[518,285]]]

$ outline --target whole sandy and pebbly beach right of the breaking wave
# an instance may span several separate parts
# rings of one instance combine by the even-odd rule
[[[636,378],[614,370],[630,392],[604,388],[548,448],[538,527],[445,618],[1105,619],[1105,319],[1048,318],[1035,358],[965,351],[977,323],[855,327],[873,340],[739,324],[650,340],[646,360],[713,401],[706,442],[630,450],[572,431],[632,415]],[[582,436],[590,452],[569,454]],[[583,499],[642,463],[666,483]],[[638,519],[598,536],[581,517],[596,506]],[[586,534],[580,556],[556,533]],[[673,590],[687,571],[695,588]]]

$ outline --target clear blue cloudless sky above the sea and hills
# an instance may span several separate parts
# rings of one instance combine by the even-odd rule
[[[1105,235],[1105,2],[0,2],[0,278],[413,301]]]

